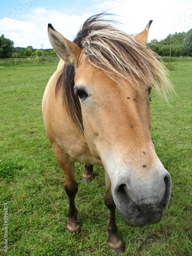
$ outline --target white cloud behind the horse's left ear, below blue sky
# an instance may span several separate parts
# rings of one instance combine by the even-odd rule
[[[31,45],[33,48],[39,49],[43,44],[45,49],[52,48],[47,35],[48,23],[51,23],[63,36],[72,40],[84,20],[91,15],[91,13],[84,13],[82,16],[66,15],[59,11],[49,11],[44,8],[31,9],[30,11],[31,13],[28,15],[19,16],[22,20],[7,17],[0,20],[1,33],[13,40],[15,47]]]

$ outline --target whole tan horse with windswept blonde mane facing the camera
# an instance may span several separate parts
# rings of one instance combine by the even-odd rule
[[[150,92],[166,97],[172,85],[155,53],[146,47],[152,20],[133,36],[104,15],[88,18],[73,42],[48,25],[60,60],[45,89],[42,113],[65,177],[66,229],[80,230],[75,162],[86,164],[85,182],[94,178],[93,165],[103,166],[108,246],[120,254],[125,248],[117,234],[115,208],[127,225],[142,227],[158,223],[170,199],[170,174],[150,133]]]

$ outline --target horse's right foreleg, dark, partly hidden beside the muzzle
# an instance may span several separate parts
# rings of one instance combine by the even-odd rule
[[[117,224],[115,221],[115,203],[113,201],[113,197],[111,194],[111,181],[109,175],[105,171],[105,183],[106,190],[103,195],[104,203],[109,210],[109,222],[108,222],[108,246],[112,251],[115,251],[117,254],[121,254],[124,252],[124,245],[122,240],[117,235]]]

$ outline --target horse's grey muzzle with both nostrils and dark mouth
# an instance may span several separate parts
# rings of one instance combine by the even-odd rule
[[[162,182],[155,180],[149,184],[142,182],[134,185],[129,180],[127,184],[116,184],[112,187],[112,195],[125,223],[142,227],[161,220],[163,209],[170,199],[171,186],[170,175],[166,172]]]

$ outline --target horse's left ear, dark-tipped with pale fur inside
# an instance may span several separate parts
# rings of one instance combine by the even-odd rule
[[[51,24],[48,24],[48,36],[57,55],[77,67],[82,49],[57,32]]]

